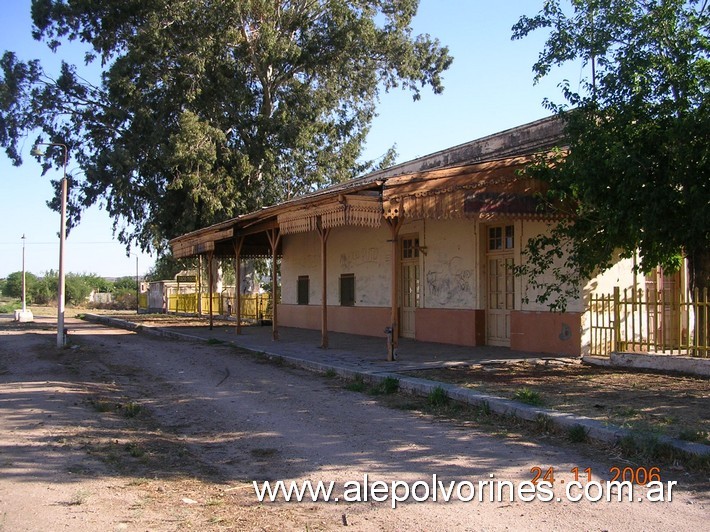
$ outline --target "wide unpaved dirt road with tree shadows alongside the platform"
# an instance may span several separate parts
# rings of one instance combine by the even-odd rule
[[[530,480],[554,467],[650,467],[497,438],[385,408],[326,379],[234,348],[71,320],[0,318],[0,530],[702,530],[708,485],[672,502],[263,502],[252,481]],[[338,487],[339,486],[339,487]],[[643,488],[638,488],[643,493]],[[562,490],[562,491],[560,491]],[[599,511],[603,509],[603,511]]]

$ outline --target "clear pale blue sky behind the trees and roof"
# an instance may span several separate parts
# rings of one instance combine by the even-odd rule
[[[444,74],[444,93],[434,95],[425,89],[418,102],[399,89],[383,95],[365,158],[377,158],[396,145],[398,162],[403,162],[547,116],[542,100],[561,100],[557,84],[567,78],[576,86],[587,73],[570,66],[533,85],[531,67],[544,36],[511,41],[510,28],[520,15],[532,15],[541,6],[542,0],[421,0],[414,32],[439,38],[454,57]],[[62,46],[52,54],[32,39],[30,0],[0,0],[0,7],[0,53],[12,50],[20,59],[39,58],[55,65],[61,59],[81,58],[77,47]],[[0,153],[0,277],[21,269],[23,234],[28,271],[57,269],[59,214],[46,201],[52,194],[49,180],[60,175],[54,171],[41,175],[29,157],[30,144],[31,139],[19,168]],[[96,206],[83,215],[67,238],[66,271],[135,275],[136,257],[126,256],[125,247],[113,236],[112,223]],[[139,272],[146,272],[153,261],[140,253]]]

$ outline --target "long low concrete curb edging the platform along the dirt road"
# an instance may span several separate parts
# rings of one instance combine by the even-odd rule
[[[164,338],[173,338],[176,340],[189,340],[197,342],[209,341],[208,338],[204,338],[201,336],[166,331],[164,329],[147,325],[138,325],[127,320],[111,318],[108,316],[85,314],[83,319],[93,323],[133,330],[136,332],[143,332]],[[351,369],[342,366],[335,366],[332,364],[315,362],[312,360],[304,360],[301,358],[289,355],[281,355],[268,351],[256,351],[254,349],[240,346],[234,341],[225,341],[224,343],[239,347],[240,349],[244,349],[245,351],[260,354],[271,360],[284,361],[290,365],[298,366],[316,373],[326,373],[328,371],[335,371],[338,376],[348,379],[353,379],[357,376],[361,376],[364,380],[372,384],[378,384],[387,378],[394,378],[399,381],[400,390],[407,393],[411,393],[413,395],[427,397],[436,388],[442,388],[452,400],[465,403],[471,406],[482,406],[484,404],[488,404],[488,408],[490,408],[491,412],[493,412],[494,414],[502,416],[515,416],[525,421],[533,422],[541,418],[549,419],[553,424],[563,430],[569,430],[573,427],[581,426],[586,430],[587,436],[590,439],[603,443],[616,444],[625,436],[631,435],[631,431],[627,429],[623,429],[621,427],[616,427],[613,425],[606,425],[595,419],[590,419],[584,416],[577,416],[574,414],[567,414],[564,412],[558,412],[556,410],[550,410],[547,408],[530,406],[523,403],[519,403],[517,401],[513,401],[511,399],[504,399],[495,395],[479,393],[473,390],[469,390],[467,388],[456,386],[454,384],[431,381],[427,379],[419,379],[416,377],[408,377],[406,375],[401,375],[396,372],[363,371],[361,369]],[[671,447],[684,453],[699,456],[710,455],[710,446],[701,443],[687,442],[675,438],[670,438],[667,436],[661,436],[659,438],[659,441],[663,444],[670,445]]]

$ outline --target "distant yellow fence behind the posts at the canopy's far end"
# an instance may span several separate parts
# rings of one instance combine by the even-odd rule
[[[201,294],[202,313],[207,314],[210,308],[210,295]],[[240,298],[241,318],[244,320],[270,320],[271,295],[248,294]],[[236,316],[236,298],[226,293],[212,294],[212,312],[218,315]],[[168,296],[168,312],[197,314],[197,294],[170,294]]]

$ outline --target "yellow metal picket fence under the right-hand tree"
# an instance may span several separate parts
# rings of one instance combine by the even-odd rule
[[[590,354],[663,353],[710,357],[710,302],[707,289],[692,301],[682,292],[620,290],[589,301]]]

